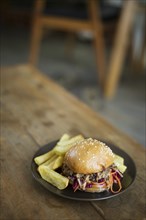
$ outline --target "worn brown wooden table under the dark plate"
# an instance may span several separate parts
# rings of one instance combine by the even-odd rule
[[[4,68],[1,79],[1,219],[145,219],[144,147],[30,66]],[[106,138],[125,150],[137,166],[132,187],[112,199],[82,202],[40,186],[31,174],[32,157],[66,132]]]

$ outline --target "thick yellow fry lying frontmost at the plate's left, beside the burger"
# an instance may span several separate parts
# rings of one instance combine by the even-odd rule
[[[69,179],[67,177],[51,170],[47,166],[40,166],[39,173],[44,180],[56,186],[58,189],[62,190],[68,186]]]

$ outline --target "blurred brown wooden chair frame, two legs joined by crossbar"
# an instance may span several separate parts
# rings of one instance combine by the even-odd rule
[[[103,39],[103,27],[99,16],[99,8],[96,0],[87,1],[88,19],[67,18],[53,15],[45,15],[45,0],[36,0],[34,6],[33,30],[31,36],[30,63],[35,65],[38,59],[40,42],[43,28],[54,28],[70,32],[89,30],[93,32],[93,47],[95,48],[96,63],[98,69],[98,80],[101,88],[103,87],[105,74],[105,45]]]

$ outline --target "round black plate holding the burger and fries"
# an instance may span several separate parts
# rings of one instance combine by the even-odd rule
[[[104,141],[105,142],[105,141]],[[119,149],[118,147],[114,146],[113,144],[109,144],[108,146],[112,149],[112,151],[115,154],[118,154],[119,156],[124,158],[124,163],[127,166],[127,170],[124,173],[124,177],[122,179],[122,190],[119,193],[113,194],[112,192],[101,192],[101,193],[89,193],[89,192],[82,192],[77,190],[76,192],[73,191],[71,185],[69,185],[66,189],[64,190],[59,190],[55,186],[51,185],[50,183],[46,182],[41,178],[37,171],[37,165],[34,162],[34,158],[36,156],[39,156],[41,154],[44,154],[51,150],[57,141],[53,141],[43,147],[41,147],[36,154],[34,155],[31,163],[31,169],[32,169],[32,174],[34,178],[41,184],[43,185],[47,190],[50,192],[61,196],[65,197],[68,199],[74,199],[74,200],[82,200],[82,201],[93,201],[93,200],[103,200],[103,199],[108,199],[112,198],[114,196],[120,195],[121,193],[125,192],[133,183],[135,177],[136,177],[136,167],[134,164],[134,161],[132,158],[125,153],[123,150]]]

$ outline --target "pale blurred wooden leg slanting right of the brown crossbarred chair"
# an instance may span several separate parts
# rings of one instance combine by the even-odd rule
[[[115,38],[113,51],[111,54],[111,60],[107,72],[104,95],[107,99],[110,99],[115,94],[120,73],[123,65],[123,61],[126,55],[129,34],[132,28],[132,23],[135,15],[135,1],[125,1],[123,11],[121,14],[118,30]]]

